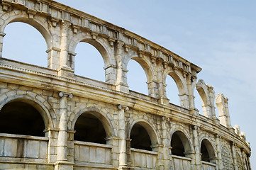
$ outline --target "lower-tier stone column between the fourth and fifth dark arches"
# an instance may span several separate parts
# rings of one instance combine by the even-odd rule
[[[201,170],[201,149],[198,137],[198,126],[193,126],[193,137],[194,137],[194,149],[195,149],[195,166],[196,170]]]

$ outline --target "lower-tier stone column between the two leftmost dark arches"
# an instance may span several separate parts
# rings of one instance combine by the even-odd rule
[[[55,170],[71,169],[72,164],[67,162],[67,97],[72,98],[72,94],[60,92],[60,124],[59,135],[57,139],[57,162]]]

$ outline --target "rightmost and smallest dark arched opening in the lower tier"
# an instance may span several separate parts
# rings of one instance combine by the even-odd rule
[[[207,138],[200,141],[202,161],[216,163],[216,154],[213,146],[212,142]]]

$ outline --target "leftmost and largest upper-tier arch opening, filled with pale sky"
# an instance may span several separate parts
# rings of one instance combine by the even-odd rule
[[[16,21],[9,23],[4,33],[6,35],[4,36],[2,57],[40,67],[48,67],[48,57],[45,52],[48,45],[38,28]],[[24,49],[24,45],[26,45],[26,49]]]

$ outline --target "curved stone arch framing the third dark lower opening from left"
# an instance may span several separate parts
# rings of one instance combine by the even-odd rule
[[[160,144],[160,136],[157,135],[157,131],[155,130],[154,125],[152,125],[152,123],[149,123],[148,121],[146,121],[144,119],[138,119],[138,120],[133,121],[133,123],[130,123],[130,126],[128,128],[128,134],[127,134],[128,138],[130,138],[130,132],[136,123],[143,126],[143,128],[145,128],[145,130],[148,132],[152,146]]]

